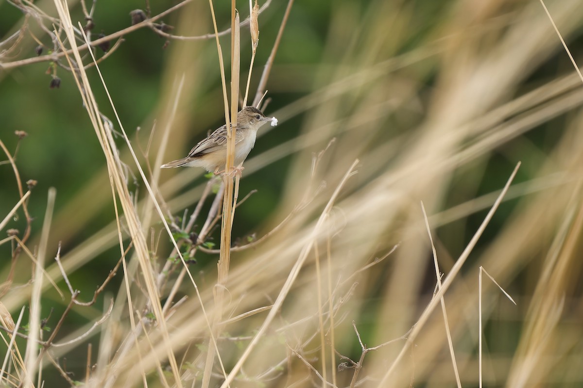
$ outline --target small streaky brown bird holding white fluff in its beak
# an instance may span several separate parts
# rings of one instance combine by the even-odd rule
[[[259,109],[245,106],[237,114],[237,128],[235,132],[235,161],[234,166],[241,165],[255,145],[257,130],[266,122],[272,126],[278,124],[276,118],[265,117]],[[227,126],[223,125],[209,137],[196,144],[186,158],[168,162],[160,168],[174,168],[180,166],[202,167],[208,172],[219,173],[227,162]],[[243,169],[243,167],[241,167]]]

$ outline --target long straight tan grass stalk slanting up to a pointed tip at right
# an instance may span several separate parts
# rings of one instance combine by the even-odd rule
[[[494,212],[496,212],[496,209],[500,205],[502,198],[504,197],[504,194],[508,190],[508,187],[510,187],[512,180],[514,180],[514,177],[515,177],[516,173],[518,172],[519,167],[520,167],[520,163],[518,163],[517,166],[514,168],[514,171],[512,172],[512,174],[510,175],[510,178],[506,182],[504,189],[502,190],[502,192],[498,196],[496,202],[494,202],[494,205],[492,206],[492,208],[490,209],[490,211],[486,215],[486,218],[484,218],[482,224],[476,230],[476,233],[473,235],[472,240],[470,240],[468,246],[466,246],[465,250],[463,250],[462,254],[455,262],[455,265],[452,267],[452,269],[449,272],[449,274],[447,275],[447,277],[445,277],[445,280],[443,282],[441,289],[437,291],[436,295],[433,297],[433,300],[431,300],[430,304],[427,305],[427,307],[423,310],[422,315],[420,316],[419,320],[415,323],[415,327],[413,328],[412,332],[409,334],[409,337],[407,338],[405,346],[403,346],[399,355],[396,357],[395,361],[392,363],[392,365],[388,369],[387,373],[385,373],[385,375],[383,376],[381,383],[380,383],[381,386],[383,384],[387,383],[388,379],[391,377],[391,374],[394,372],[396,366],[399,364],[401,359],[404,357],[404,355],[405,355],[406,351],[408,351],[409,347],[412,346],[412,343],[413,343],[413,341],[415,341],[417,335],[419,335],[420,330],[423,329],[423,326],[427,322],[427,320],[429,319],[431,312],[433,312],[433,310],[437,307],[437,302],[441,300],[441,297],[443,296],[443,294],[445,294],[445,291],[447,291],[449,289],[449,286],[451,286],[451,284],[453,283],[456,275],[458,275],[459,270],[462,268],[462,265],[465,263],[466,259],[469,257],[470,252],[472,252],[473,248],[475,247],[477,240],[480,238],[480,236],[482,236],[484,229],[486,229],[486,226],[490,222],[492,216],[494,215]]]

